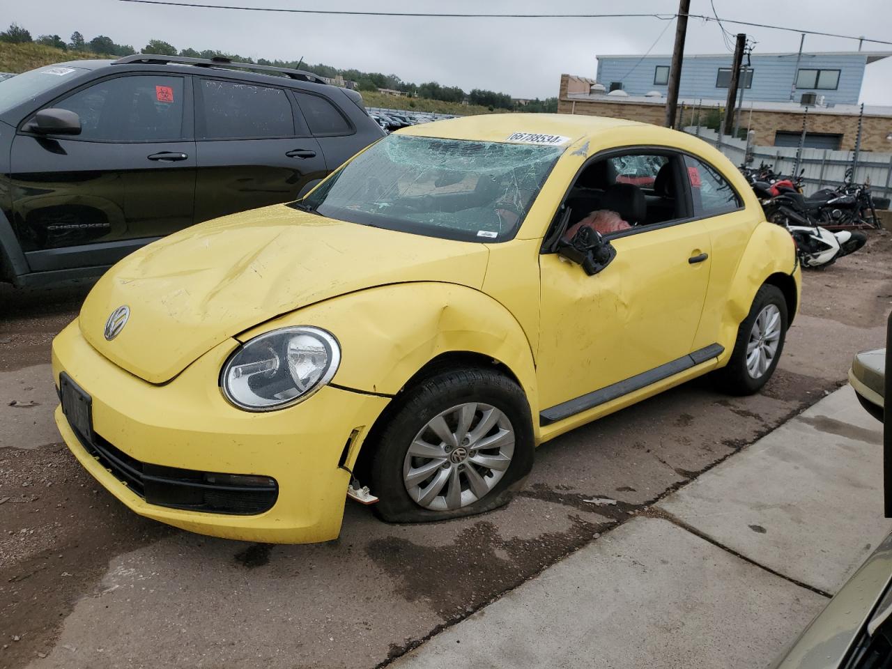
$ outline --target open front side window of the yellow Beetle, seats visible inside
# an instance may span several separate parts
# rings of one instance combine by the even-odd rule
[[[687,218],[684,190],[678,185],[681,156],[668,151],[631,151],[591,162],[566,197],[570,214],[562,236],[581,227],[601,235]]]

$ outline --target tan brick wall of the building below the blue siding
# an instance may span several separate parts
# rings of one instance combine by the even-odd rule
[[[645,123],[663,125],[665,103],[621,102],[614,100],[580,100],[567,95],[569,75],[561,75],[560,93],[558,95],[558,113],[583,114],[587,116],[607,116],[614,119],[640,120]],[[744,103],[746,106],[746,103]],[[706,107],[701,108],[701,118],[706,120]],[[681,106],[682,123],[690,125],[695,116],[695,109]],[[778,130],[785,132],[802,132],[802,113],[798,111],[757,111],[752,112],[752,128],[756,130],[756,145],[773,146],[774,134]],[[855,148],[855,137],[858,134],[858,116],[856,114],[831,114],[808,111],[809,132],[842,134],[839,148],[849,151]],[[750,124],[750,112],[740,112],[740,125],[747,128]],[[862,151],[892,152],[892,141],[886,139],[892,133],[892,116],[865,116],[863,120]]]

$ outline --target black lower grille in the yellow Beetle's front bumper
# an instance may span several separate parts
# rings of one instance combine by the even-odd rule
[[[278,484],[272,479],[270,485],[209,483],[207,476],[214,476],[210,472],[141,462],[115,448],[99,434],[95,434],[93,441],[88,441],[77,430],[74,432],[87,453],[150,504],[252,516],[267,511],[276,503]]]

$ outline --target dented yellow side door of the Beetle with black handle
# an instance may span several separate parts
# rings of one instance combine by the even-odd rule
[[[638,178],[652,184],[657,168],[668,170],[679,186],[673,186],[675,209],[668,219],[636,221],[629,229],[605,235],[615,248],[615,259],[593,276],[558,253],[540,256],[537,368],[545,422],[570,417],[670,376],[667,372],[677,373],[681,366],[690,367],[687,356],[696,351],[693,342],[709,283],[710,238],[703,221],[690,216],[690,202],[681,190],[681,155],[662,151],[660,156],[662,161],[649,161],[655,170],[648,179]],[[628,157],[612,160],[622,165]],[[599,167],[591,165],[604,173]],[[612,172],[612,183],[626,190],[640,188],[615,168]],[[610,188],[599,186],[583,189],[593,194],[593,202]],[[647,193],[648,200],[660,199],[652,190]],[[647,211],[664,208],[648,202]]]

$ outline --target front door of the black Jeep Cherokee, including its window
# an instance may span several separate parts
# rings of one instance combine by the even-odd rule
[[[188,77],[136,73],[45,105],[78,114],[76,136],[12,141],[15,233],[32,271],[109,265],[192,225],[195,151]]]

